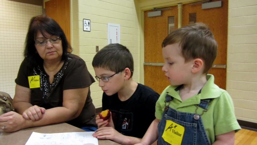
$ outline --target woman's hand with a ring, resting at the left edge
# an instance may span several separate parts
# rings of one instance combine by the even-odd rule
[[[25,127],[26,119],[22,115],[11,111],[0,116],[0,129],[6,132],[14,132]]]

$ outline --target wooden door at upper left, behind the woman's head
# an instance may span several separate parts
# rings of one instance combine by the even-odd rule
[[[71,43],[70,0],[50,0],[45,2],[45,14],[54,19]]]

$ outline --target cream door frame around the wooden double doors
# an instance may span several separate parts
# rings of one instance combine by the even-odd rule
[[[138,2],[139,1],[139,2]],[[170,7],[176,6],[181,4],[180,8],[178,8],[178,28],[182,25],[182,6],[183,4],[199,2],[202,0],[155,0],[150,2],[140,2],[137,1],[137,16],[139,21],[139,83],[144,85],[145,82],[145,75],[144,75],[144,62],[145,62],[145,36],[144,36],[144,29],[145,29],[145,22],[144,22],[144,12],[148,10],[152,10],[153,8],[163,8],[163,7]]]

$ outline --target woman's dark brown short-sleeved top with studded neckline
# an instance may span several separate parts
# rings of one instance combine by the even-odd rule
[[[87,70],[85,61],[71,53],[68,54],[61,69],[54,75],[52,84],[49,82],[49,76],[43,64],[32,67],[27,57],[20,65],[15,82],[17,85],[30,88],[28,76],[37,75],[40,77],[40,87],[30,89],[30,103],[45,109],[62,107],[63,90],[88,87],[95,82]],[[96,108],[92,103],[89,90],[80,115],[67,123],[76,127],[97,126],[95,114]]]

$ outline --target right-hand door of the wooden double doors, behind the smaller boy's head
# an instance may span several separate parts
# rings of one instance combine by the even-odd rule
[[[212,2],[220,1],[213,0]],[[196,13],[196,14],[195,14]],[[182,25],[188,25],[189,15],[196,16],[196,22],[206,24],[214,34],[215,40],[218,43],[218,54],[214,61],[214,65],[227,64],[227,13],[228,13],[228,0],[222,0],[222,7],[202,9],[201,4],[183,5],[182,11]],[[215,77],[215,84],[222,89],[226,89],[226,69],[225,68],[211,68],[208,72]]]

